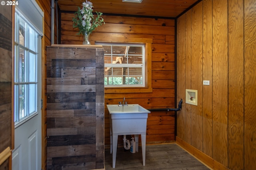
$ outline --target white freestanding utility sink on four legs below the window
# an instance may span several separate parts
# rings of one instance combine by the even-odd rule
[[[113,168],[116,166],[116,149],[118,135],[134,135],[136,152],[138,152],[138,135],[141,135],[142,161],[145,166],[146,128],[148,111],[138,104],[127,106],[107,105],[110,113],[110,153],[112,153]]]

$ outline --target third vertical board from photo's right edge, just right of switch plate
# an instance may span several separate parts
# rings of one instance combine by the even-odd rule
[[[212,118],[213,158],[228,166],[228,11],[227,2],[213,1]]]

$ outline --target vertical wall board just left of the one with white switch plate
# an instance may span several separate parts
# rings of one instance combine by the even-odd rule
[[[197,90],[197,106],[191,106],[191,145],[203,150],[202,136],[202,2],[192,8],[191,89]]]

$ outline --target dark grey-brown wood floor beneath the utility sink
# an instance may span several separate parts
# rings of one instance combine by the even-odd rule
[[[146,166],[142,165],[142,151],[131,153],[118,148],[116,168],[112,168],[112,154],[105,149],[106,170],[209,170],[175,143],[146,146]]]

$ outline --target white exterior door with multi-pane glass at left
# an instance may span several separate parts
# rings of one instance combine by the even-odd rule
[[[41,35],[15,12],[12,170],[41,170]]]

